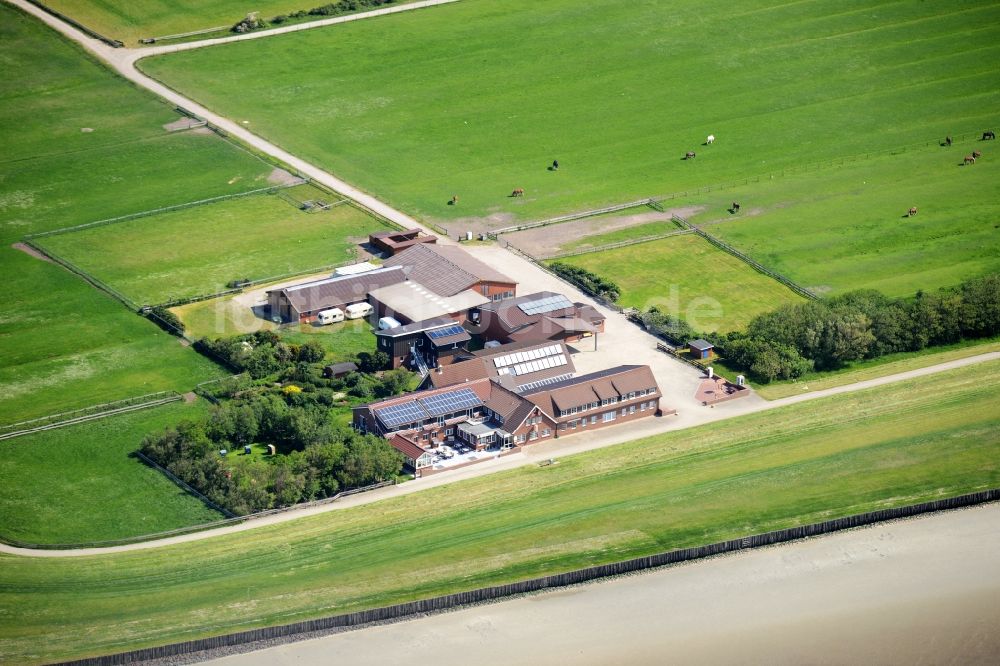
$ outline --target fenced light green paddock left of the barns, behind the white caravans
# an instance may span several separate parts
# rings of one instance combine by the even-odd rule
[[[300,200],[317,194],[309,185],[286,192]],[[152,305],[223,291],[231,280],[347,263],[359,242],[384,228],[353,206],[306,213],[277,195],[261,194],[48,236],[40,243],[136,303]]]

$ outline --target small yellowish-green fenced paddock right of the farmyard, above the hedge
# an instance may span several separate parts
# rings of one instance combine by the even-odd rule
[[[693,234],[591,252],[559,261],[621,288],[618,303],[652,305],[700,331],[732,331],[755,315],[801,300],[787,287]]]

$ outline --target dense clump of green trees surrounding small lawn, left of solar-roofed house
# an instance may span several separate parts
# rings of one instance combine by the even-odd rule
[[[233,451],[250,443],[273,444],[279,455],[243,460]],[[403,466],[384,439],[335,427],[321,406],[274,393],[222,403],[200,421],[146,437],[141,450],[237,515],[391,479]]]

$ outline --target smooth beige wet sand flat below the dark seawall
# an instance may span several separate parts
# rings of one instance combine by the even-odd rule
[[[211,663],[995,664],[1000,504]]]

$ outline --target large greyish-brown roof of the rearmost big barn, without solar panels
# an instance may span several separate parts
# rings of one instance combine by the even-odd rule
[[[387,259],[385,265],[404,267],[411,280],[441,296],[454,296],[480,282],[516,284],[462,248],[451,245],[414,245]]]

